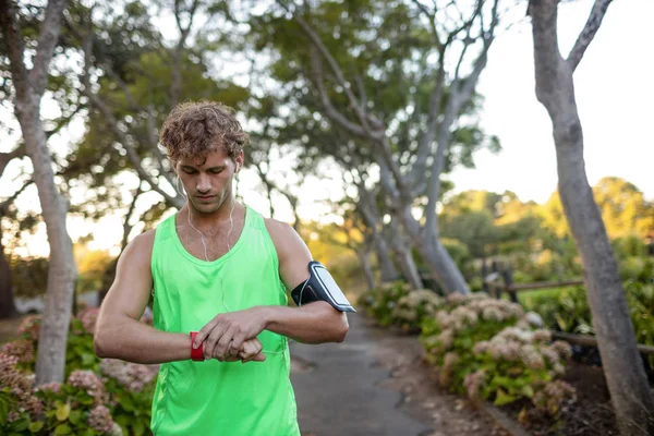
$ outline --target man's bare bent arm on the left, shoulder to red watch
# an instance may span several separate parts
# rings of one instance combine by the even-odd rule
[[[121,254],[94,338],[99,358],[135,363],[165,363],[191,358],[191,338],[160,331],[138,319],[153,289],[150,258],[155,231],[135,238]]]

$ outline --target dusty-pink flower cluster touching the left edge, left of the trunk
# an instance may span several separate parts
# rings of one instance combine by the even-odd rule
[[[36,419],[43,410],[43,404],[34,396],[34,374],[28,374],[16,368],[19,359],[13,355],[0,353],[0,388],[9,388],[17,399],[19,404],[9,414],[9,421],[13,422],[20,417],[20,413],[27,412]]]

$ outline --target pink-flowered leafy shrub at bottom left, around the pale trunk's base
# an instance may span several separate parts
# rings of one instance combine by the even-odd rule
[[[0,349],[0,434],[146,435],[158,367],[99,360],[97,310],[71,319],[66,383],[34,387],[40,316],[26,317],[20,339]],[[147,319],[144,322],[147,323]]]

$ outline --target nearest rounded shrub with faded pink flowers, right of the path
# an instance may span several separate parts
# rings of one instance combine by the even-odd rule
[[[573,389],[561,380],[571,355],[567,342],[550,343],[532,330],[522,307],[508,301],[451,295],[446,308],[423,323],[421,341],[440,383],[472,400],[501,405],[529,398],[557,413]]]

